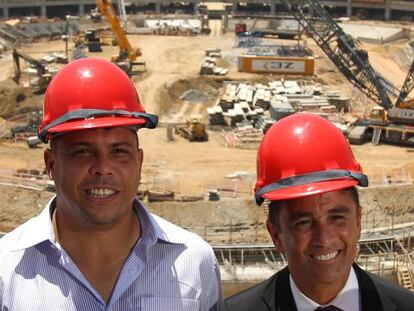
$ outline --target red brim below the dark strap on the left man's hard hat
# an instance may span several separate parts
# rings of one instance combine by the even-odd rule
[[[144,125],[146,120],[144,118],[114,118],[112,116],[90,118],[86,120],[73,120],[56,126],[51,127],[48,130],[49,134],[58,134],[65,132],[81,131],[95,128],[108,128],[108,127],[122,127],[131,125]]]

